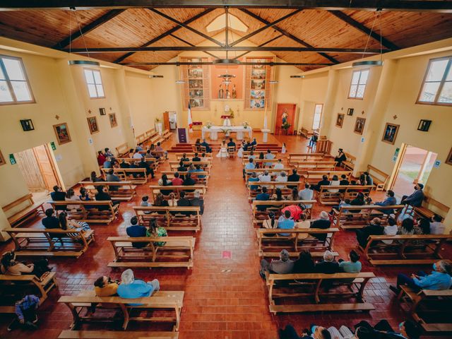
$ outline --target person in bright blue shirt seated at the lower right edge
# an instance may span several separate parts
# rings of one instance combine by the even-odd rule
[[[397,286],[389,286],[391,291],[396,295],[400,292],[400,285],[408,285],[416,292],[420,290],[448,290],[452,285],[452,267],[451,264],[445,260],[436,261],[433,264],[433,270],[431,274],[424,272],[418,272],[412,274],[411,277],[403,273],[397,275]]]

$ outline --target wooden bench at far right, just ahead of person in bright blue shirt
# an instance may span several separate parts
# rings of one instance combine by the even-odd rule
[[[359,249],[372,265],[428,265],[441,260],[441,246],[452,239],[448,234],[370,235]],[[391,240],[391,244],[382,242]]]

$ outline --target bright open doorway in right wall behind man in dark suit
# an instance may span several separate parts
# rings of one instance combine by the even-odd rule
[[[405,145],[400,155],[402,158],[398,162],[396,177],[391,185],[398,198],[412,194],[414,184],[427,182],[438,156],[429,150],[411,145]]]

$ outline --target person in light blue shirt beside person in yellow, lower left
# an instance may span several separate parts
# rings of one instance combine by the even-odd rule
[[[128,270],[124,270],[121,275],[121,285],[119,285],[117,293],[121,298],[135,299],[150,297],[153,295],[153,292],[157,292],[158,290],[160,290],[160,283],[157,279],[145,283],[143,280],[135,279],[133,270],[129,268]],[[132,306],[138,306],[138,304],[133,304]]]

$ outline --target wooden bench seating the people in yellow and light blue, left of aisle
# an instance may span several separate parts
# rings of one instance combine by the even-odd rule
[[[165,321],[173,322],[173,331],[179,330],[179,322],[181,318],[181,310],[184,300],[183,291],[157,291],[150,297],[141,297],[136,299],[125,299],[121,297],[97,297],[94,291],[83,292],[76,296],[60,297],[58,302],[66,304],[71,310],[73,316],[73,323],[71,329],[76,329],[82,323],[93,321],[111,321],[117,323],[118,319],[110,316],[108,318],[97,317],[95,314],[87,312],[84,316],[82,310],[90,309],[92,304],[97,304],[96,308],[102,308],[102,304],[112,304],[117,306],[115,310],[121,311],[123,315],[122,329],[126,330],[130,321]],[[131,306],[130,304],[139,304],[138,306]],[[174,316],[133,316],[135,309],[169,309],[174,311]]]

